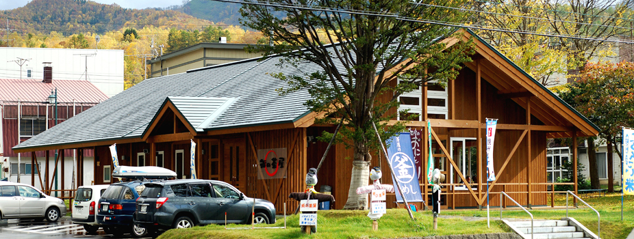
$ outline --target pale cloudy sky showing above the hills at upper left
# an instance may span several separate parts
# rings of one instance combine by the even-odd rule
[[[10,10],[23,7],[31,0],[0,0],[0,10]],[[97,3],[112,4],[116,3],[122,8],[165,8],[170,5],[181,5],[182,0],[90,0]]]

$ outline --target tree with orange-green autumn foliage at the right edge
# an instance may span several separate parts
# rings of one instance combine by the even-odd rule
[[[622,159],[622,127],[634,126],[634,64],[587,64],[579,81],[568,83],[559,96],[600,128],[599,136],[607,144],[608,191],[613,191],[612,150]],[[589,139],[588,142],[594,140]],[[588,145],[591,147],[592,145]],[[613,147],[614,146],[614,147]],[[591,182],[596,184],[596,163],[589,165]],[[594,178],[593,178],[594,177]],[[594,181],[596,180],[596,181]],[[596,186],[596,185],[593,185]]]

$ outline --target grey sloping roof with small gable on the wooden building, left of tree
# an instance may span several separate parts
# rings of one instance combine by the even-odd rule
[[[279,57],[258,59],[147,79],[16,145],[14,149],[140,138],[166,99],[177,105],[196,130],[294,122],[308,113],[303,105],[310,98],[308,92],[280,96],[275,89],[288,85],[266,74],[301,72],[297,72],[296,68],[276,66]],[[320,68],[305,64],[302,70],[315,72]],[[210,108],[201,107],[198,112],[193,111],[193,105],[188,107],[186,101],[194,98],[197,100],[193,101],[207,104],[205,107]],[[224,108],[215,106],[214,109],[212,101],[221,98],[227,100]]]

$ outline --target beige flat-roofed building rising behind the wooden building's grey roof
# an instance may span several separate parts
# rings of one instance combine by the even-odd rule
[[[231,61],[262,57],[262,53],[246,53],[247,44],[199,43],[147,61],[149,78],[179,74],[188,70],[225,64]]]

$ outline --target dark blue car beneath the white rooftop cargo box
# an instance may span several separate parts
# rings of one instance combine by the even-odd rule
[[[136,211],[136,199],[144,191],[147,182],[160,180],[135,180],[111,184],[99,199],[97,223],[106,234],[121,236],[125,233],[144,236],[147,231],[132,223],[132,214]],[[134,233],[132,233],[134,231]]]

